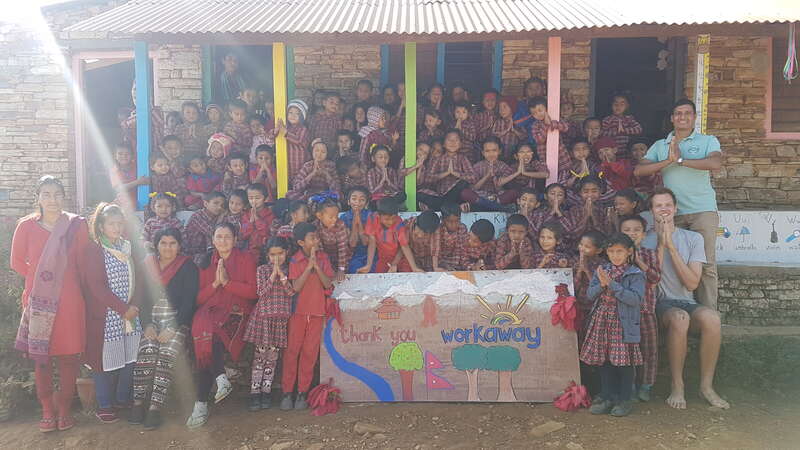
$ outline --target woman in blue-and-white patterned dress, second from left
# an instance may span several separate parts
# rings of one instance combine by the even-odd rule
[[[90,222],[92,239],[103,250],[108,288],[119,301],[138,306],[131,243],[122,238],[125,230],[122,208],[113,203],[100,203]],[[131,403],[133,366],[142,327],[138,318],[126,320],[106,305],[90,303],[86,330],[87,360],[92,368],[98,406],[95,415],[103,423],[114,423],[119,420],[115,407],[129,407]]]

